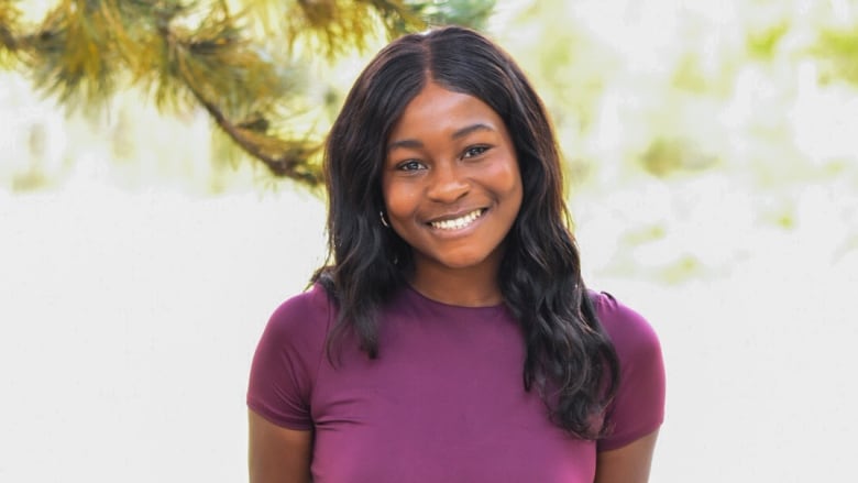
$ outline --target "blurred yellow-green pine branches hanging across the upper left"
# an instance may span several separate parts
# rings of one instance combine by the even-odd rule
[[[323,84],[307,81],[310,61],[435,24],[482,29],[494,8],[494,0],[57,0],[25,25],[22,3],[0,0],[0,68],[22,70],[70,109],[102,109],[128,87],[162,111],[201,107],[241,151],[307,186],[321,182],[321,141],[296,125]]]

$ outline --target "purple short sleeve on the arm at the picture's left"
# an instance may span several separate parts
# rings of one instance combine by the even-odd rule
[[[312,429],[310,396],[324,352],[328,310],[321,287],[283,303],[256,345],[248,407],[290,429]]]

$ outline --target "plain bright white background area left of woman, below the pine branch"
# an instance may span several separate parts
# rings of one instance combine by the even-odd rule
[[[264,323],[322,261],[295,193],[0,198],[0,480],[245,479]]]

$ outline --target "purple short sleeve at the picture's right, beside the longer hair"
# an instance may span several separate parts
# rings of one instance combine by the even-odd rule
[[[619,359],[617,395],[607,411],[607,436],[598,451],[622,448],[664,420],[664,361],[656,331],[638,312],[606,293],[591,294],[596,315]]]

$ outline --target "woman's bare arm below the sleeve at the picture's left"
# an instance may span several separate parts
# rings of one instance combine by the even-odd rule
[[[308,483],[312,431],[288,429],[253,410],[249,416],[250,483]]]

